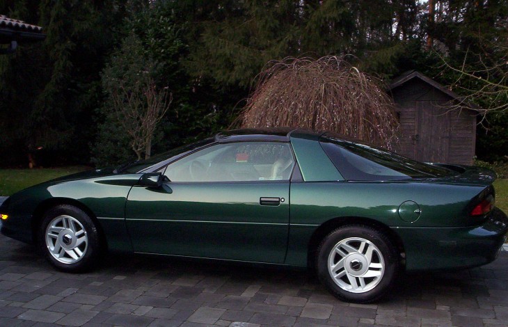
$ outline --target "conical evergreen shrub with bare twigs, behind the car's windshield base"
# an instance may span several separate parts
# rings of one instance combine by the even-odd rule
[[[143,154],[145,159],[150,157],[155,129],[170,104],[167,88],[154,84],[156,70],[157,63],[145,56],[141,40],[131,32],[102,73],[106,119],[99,125],[102,137],[97,141],[97,151],[113,150],[110,155],[118,157],[111,138],[104,137],[115,129],[120,141],[128,140],[138,160]],[[103,153],[101,158],[105,157]]]

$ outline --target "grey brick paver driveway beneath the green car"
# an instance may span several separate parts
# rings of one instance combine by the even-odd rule
[[[481,269],[404,276],[384,301],[335,300],[305,271],[109,255],[55,271],[0,236],[0,326],[508,326],[508,253]]]

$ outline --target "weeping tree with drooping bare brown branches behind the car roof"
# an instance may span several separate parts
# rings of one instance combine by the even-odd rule
[[[241,127],[331,130],[392,148],[393,102],[378,79],[336,56],[271,61],[239,116]]]

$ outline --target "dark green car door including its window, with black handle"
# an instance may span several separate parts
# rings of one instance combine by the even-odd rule
[[[216,143],[170,163],[170,182],[134,186],[126,221],[135,252],[283,263],[289,143]]]

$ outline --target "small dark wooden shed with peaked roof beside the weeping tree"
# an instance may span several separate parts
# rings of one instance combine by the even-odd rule
[[[478,110],[416,71],[397,77],[388,88],[399,119],[397,152],[418,161],[470,165],[475,156]]]

